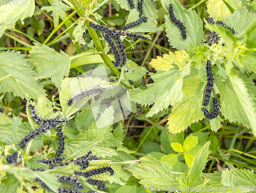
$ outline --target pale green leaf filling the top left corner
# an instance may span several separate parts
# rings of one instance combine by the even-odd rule
[[[3,3],[3,2],[2,2]],[[14,28],[15,22],[19,19],[23,20],[27,17],[32,17],[35,9],[35,1],[27,0],[25,2],[20,2],[17,6],[15,3],[14,6],[8,4],[7,6],[0,6],[0,38],[4,34],[7,28]]]

